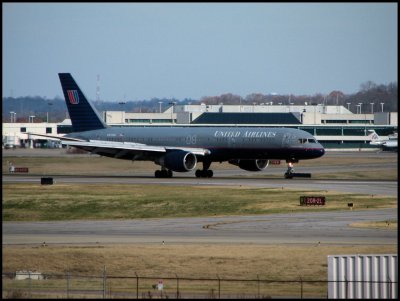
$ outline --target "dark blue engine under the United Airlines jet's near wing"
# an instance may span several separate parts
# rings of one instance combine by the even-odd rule
[[[167,153],[157,163],[173,171],[187,172],[196,167],[197,158],[190,152],[177,150]]]

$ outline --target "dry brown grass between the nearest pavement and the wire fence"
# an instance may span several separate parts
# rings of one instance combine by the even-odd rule
[[[397,253],[397,245],[135,244],[3,246],[3,272],[324,280],[327,255]]]

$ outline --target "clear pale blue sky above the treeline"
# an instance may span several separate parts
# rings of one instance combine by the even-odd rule
[[[397,3],[2,3],[3,97],[356,93],[397,82]],[[99,87],[99,88],[98,88]]]

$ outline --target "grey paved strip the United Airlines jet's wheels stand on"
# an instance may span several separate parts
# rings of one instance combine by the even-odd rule
[[[226,174],[222,171],[221,174]],[[261,188],[307,189],[319,191],[339,191],[345,193],[360,193],[368,195],[397,196],[397,181],[371,180],[313,180],[311,179],[277,179],[259,178],[251,175],[240,178],[216,176],[211,179],[195,178],[190,175],[175,176],[169,179],[160,179],[149,176],[57,176],[53,177],[56,183],[104,183],[104,184],[157,184],[157,185],[195,185],[195,186],[250,186]],[[3,183],[38,183],[41,176],[36,175],[3,175]]]

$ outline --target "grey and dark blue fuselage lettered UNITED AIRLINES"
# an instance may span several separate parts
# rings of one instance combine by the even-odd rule
[[[211,162],[233,159],[298,161],[321,157],[325,150],[308,132],[269,127],[111,127],[69,134],[84,140],[208,149]],[[102,154],[107,156],[107,154]],[[132,159],[120,157],[120,159]],[[198,157],[203,161],[203,157]]]

